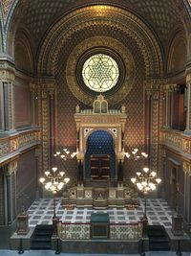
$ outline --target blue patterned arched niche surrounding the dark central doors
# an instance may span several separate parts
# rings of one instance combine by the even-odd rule
[[[88,137],[87,151],[85,154],[86,179],[90,180],[91,167],[90,159],[92,154],[110,155],[110,178],[115,179],[116,155],[112,135],[106,130],[96,130]]]

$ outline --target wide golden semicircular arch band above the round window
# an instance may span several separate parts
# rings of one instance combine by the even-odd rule
[[[144,59],[146,76],[162,75],[163,63],[156,36],[138,16],[112,6],[81,8],[58,21],[46,36],[39,52],[37,68],[39,75],[43,73],[54,75],[64,44],[77,31],[96,25],[107,25],[108,29],[117,28],[124,36],[131,37],[138,44]]]

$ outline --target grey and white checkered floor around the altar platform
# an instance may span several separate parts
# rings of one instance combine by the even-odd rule
[[[144,211],[144,199],[138,198],[139,205],[134,210],[126,208],[109,208],[107,210],[95,210],[92,208],[74,208],[68,210],[64,208],[60,202],[61,198],[55,199],[56,217],[63,222],[90,222],[91,214],[94,212],[109,213],[110,222],[113,223],[131,223],[140,221]],[[146,215],[149,224],[164,225],[171,228],[172,210],[167,202],[162,198],[147,198]],[[31,227],[36,224],[52,224],[53,218],[53,198],[36,199],[28,210],[29,225]]]

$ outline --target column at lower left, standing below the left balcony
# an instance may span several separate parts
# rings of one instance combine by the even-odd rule
[[[16,217],[16,172],[17,160],[12,161],[8,165],[7,173],[7,213],[8,223],[14,221]]]

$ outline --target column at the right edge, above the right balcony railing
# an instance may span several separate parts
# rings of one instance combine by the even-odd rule
[[[186,128],[185,133],[191,134],[191,73],[186,76],[187,87],[187,113],[186,113]]]

